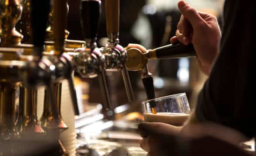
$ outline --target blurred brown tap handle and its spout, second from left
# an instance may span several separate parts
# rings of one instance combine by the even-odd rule
[[[56,54],[61,57],[64,52],[64,40],[65,40],[65,29],[67,24],[67,0],[53,0],[53,31],[54,31],[54,42],[55,42],[55,52]],[[66,59],[67,60],[67,59]],[[74,79],[73,79],[73,72],[72,72],[72,62],[67,60],[67,72],[64,75],[64,78],[67,78],[69,84],[69,90],[71,94],[72,104],[74,107],[75,115],[79,115],[78,104],[77,104],[77,96],[74,89]]]

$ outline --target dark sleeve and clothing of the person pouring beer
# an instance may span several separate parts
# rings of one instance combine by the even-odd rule
[[[199,121],[220,123],[249,137],[256,133],[252,100],[255,8],[252,0],[226,0],[220,55],[195,109]]]

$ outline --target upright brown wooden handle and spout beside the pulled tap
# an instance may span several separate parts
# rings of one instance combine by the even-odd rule
[[[119,43],[119,16],[120,16],[120,0],[106,0],[106,21],[107,21],[107,33],[109,47],[114,48],[115,44]],[[126,54],[126,52],[125,52]],[[131,87],[131,81],[128,71],[125,66],[126,60],[123,62],[123,68],[121,69],[125,89],[128,97],[128,101],[134,101],[134,94]]]

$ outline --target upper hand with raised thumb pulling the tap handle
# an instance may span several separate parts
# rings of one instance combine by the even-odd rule
[[[182,16],[172,43],[192,43],[198,56],[202,72],[209,75],[216,56],[219,54],[221,32],[215,16],[195,10],[183,0],[178,3]]]

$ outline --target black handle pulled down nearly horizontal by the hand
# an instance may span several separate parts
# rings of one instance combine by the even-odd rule
[[[194,46],[192,44],[183,45],[180,42],[170,44],[154,49],[158,59],[182,58],[196,56]]]

